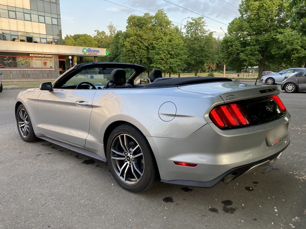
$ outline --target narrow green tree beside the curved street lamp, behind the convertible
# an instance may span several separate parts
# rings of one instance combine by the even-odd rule
[[[215,43],[212,36],[213,32],[206,30],[204,27],[204,17],[191,18],[184,26],[185,45],[188,51],[187,65],[190,66],[195,76],[198,71],[206,71],[205,64],[215,63],[216,56],[214,53]]]

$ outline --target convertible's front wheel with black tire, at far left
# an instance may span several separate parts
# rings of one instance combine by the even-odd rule
[[[28,111],[25,109],[24,105],[20,105],[16,113],[16,122],[18,133],[22,140],[26,142],[32,142],[36,139],[31,119],[28,115]]]

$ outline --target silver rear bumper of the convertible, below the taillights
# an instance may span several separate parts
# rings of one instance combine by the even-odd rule
[[[287,113],[273,122],[232,130],[220,130],[208,123],[186,139],[147,139],[163,182],[212,187],[229,174],[234,179],[263,162],[273,162],[289,145],[289,120]],[[267,136],[281,125],[285,126],[287,136],[268,146]],[[175,165],[174,161],[197,166]]]

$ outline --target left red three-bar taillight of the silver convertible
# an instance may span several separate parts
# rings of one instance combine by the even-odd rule
[[[239,104],[228,104],[215,107],[209,113],[209,118],[219,128],[250,124],[250,119]]]

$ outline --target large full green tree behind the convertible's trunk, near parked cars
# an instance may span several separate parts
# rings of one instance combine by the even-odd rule
[[[258,66],[261,76],[266,62],[275,59],[271,50],[279,29],[288,26],[285,7],[286,0],[242,0],[240,16],[229,24],[222,40],[227,63],[237,71]]]

